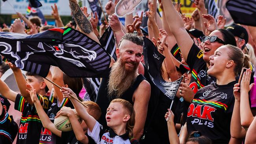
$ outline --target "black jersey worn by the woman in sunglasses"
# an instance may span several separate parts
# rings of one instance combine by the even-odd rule
[[[191,46],[187,55],[187,64],[191,69],[192,78],[190,85],[193,85],[195,90],[216,82],[216,78],[207,74],[207,65],[203,59],[204,52],[195,44]]]

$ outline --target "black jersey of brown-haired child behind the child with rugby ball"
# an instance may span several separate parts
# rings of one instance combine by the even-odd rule
[[[66,106],[71,107],[71,109],[74,109],[74,106],[68,98],[63,98],[62,102],[59,102],[59,100],[53,98],[52,94],[53,91],[50,94],[50,100],[52,100],[53,103],[50,109],[48,110],[47,115],[53,123],[55,116],[61,109],[61,107]],[[61,138],[52,133],[51,131],[49,131],[48,129],[42,127],[39,144],[61,144]]]

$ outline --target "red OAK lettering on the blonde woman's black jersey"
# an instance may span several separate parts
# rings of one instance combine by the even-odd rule
[[[191,103],[188,108],[187,116],[193,116],[205,120],[210,120],[213,122],[213,117],[211,113],[214,112],[216,109],[214,107],[210,107],[208,105],[197,105],[195,107],[194,103]]]

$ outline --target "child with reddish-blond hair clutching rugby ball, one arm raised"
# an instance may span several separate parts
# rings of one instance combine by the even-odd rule
[[[70,123],[72,125],[73,131],[60,131],[55,126],[54,123],[50,121],[46,113],[43,111],[42,107],[40,106],[39,100],[36,98],[35,89],[31,85],[27,85],[30,91],[31,99],[37,109],[37,112],[42,120],[43,126],[46,129],[49,129],[52,133],[61,137],[61,144],[93,144],[95,143],[92,139],[90,140],[85,133],[87,133],[87,126],[85,122],[80,124],[76,119],[74,111],[70,107],[62,107],[61,110],[57,113],[58,115],[68,116]],[[98,119],[100,117],[101,111],[100,107],[91,101],[83,102],[87,105],[87,111],[90,113],[94,118]],[[84,108],[83,108],[84,109]]]

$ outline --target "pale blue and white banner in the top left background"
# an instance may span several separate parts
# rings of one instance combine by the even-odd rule
[[[10,4],[7,2],[3,2],[0,0],[0,14],[16,14],[15,11],[20,12],[22,14],[26,14],[27,7],[29,2],[27,0],[8,0]],[[40,0],[43,6],[39,7],[42,11],[43,15],[52,15],[52,7],[54,4],[58,6],[59,15],[67,15],[70,16],[71,11],[69,8],[68,0]],[[15,11],[13,10],[15,9]]]

